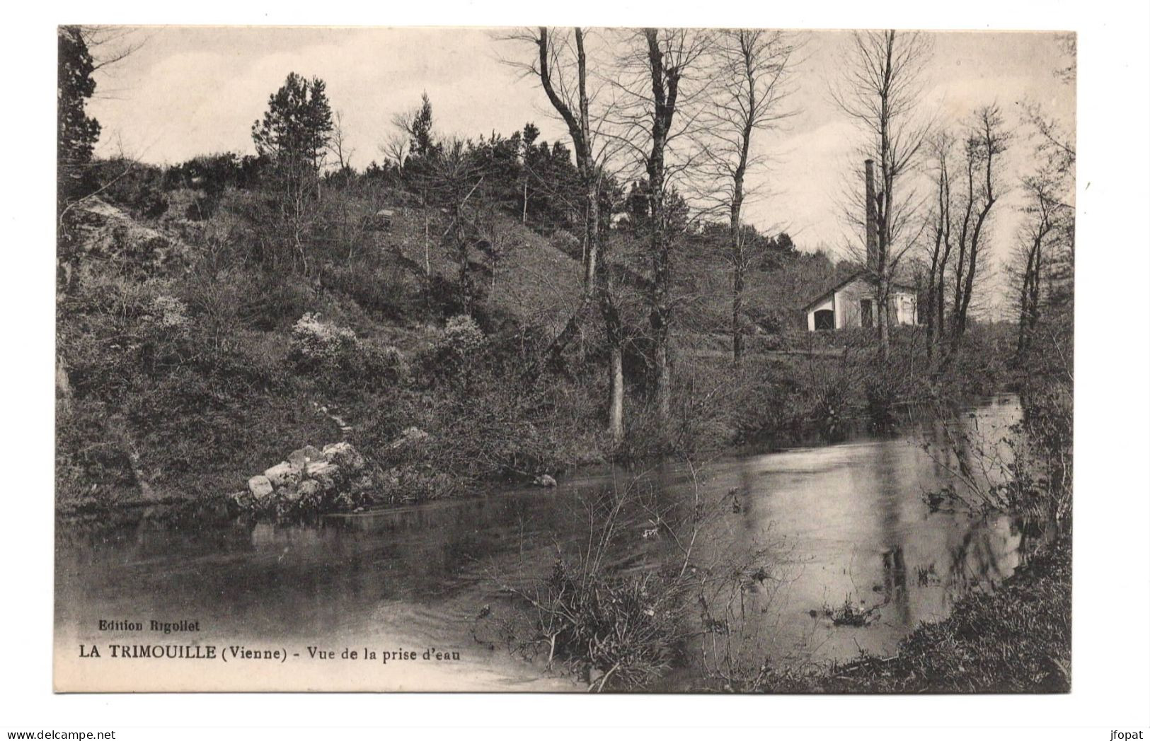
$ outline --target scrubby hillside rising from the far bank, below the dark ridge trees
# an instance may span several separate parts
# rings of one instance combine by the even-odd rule
[[[864,383],[858,358],[779,352],[810,345],[798,307],[849,269],[789,240],[760,238],[747,357],[733,366],[720,230],[676,245],[675,411],[658,422],[645,245],[616,229],[627,427],[615,445],[598,312],[564,368],[524,375],[578,300],[569,231],[545,236],[476,207],[460,238],[446,210],[366,177],[327,183],[292,221],[267,186],[130,175],[70,207],[60,238],[56,492],[68,508],[233,493],[293,450],[336,442],[362,451],[376,483],[346,505],[421,501],[586,462],[702,455],[826,419],[835,430],[844,410],[917,393],[903,361]]]

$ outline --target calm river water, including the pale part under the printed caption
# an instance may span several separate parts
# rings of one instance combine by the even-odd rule
[[[999,396],[961,410],[957,423],[998,440],[1018,416],[1017,399]],[[964,593],[994,588],[1017,568],[1022,534],[1007,518],[925,502],[926,492],[954,484],[945,458],[922,448],[935,438],[933,423],[908,419],[897,433],[856,432],[835,445],[704,466],[703,489],[727,508],[710,525],[710,542],[765,547],[770,578],[752,585],[750,620],[757,650],[769,661],[888,654],[915,625],[946,617]],[[555,489],[508,489],[309,525],[181,527],[147,511],[114,525],[59,522],[56,687],[582,689],[513,655],[492,639],[490,622],[509,603],[501,585],[545,574],[555,549],[569,553],[585,534],[584,500],[634,476],[576,472]],[[645,476],[668,497],[692,491],[685,466]],[[630,523],[620,535],[634,540],[634,559],[666,554],[643,525]],[[845,602],[869,610],[868,624],[836,624],[834,611]],[[110,627],[101,630],[101,619]],[[195,622],[198,630],[166,635],[151,631],[153,619]],[[113,661],[113,643],[245,646],[283,657]],[[92,646],[99,658],[83,656]],[[335,658],[313,658],[309,647]],[[352,659],[351,650],[360,656]],[[417,657],[384,663],[383,651]],[[690,687],[700,671],[688,662],[661,688]]]

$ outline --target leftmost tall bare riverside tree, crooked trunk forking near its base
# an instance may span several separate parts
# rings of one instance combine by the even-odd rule
[[[599,136],[604,111],[597,106],[598,85],[588,68],[588,32],[584,29],[553,30],[539,26],[509,37],[534,45],[530,62],[512,64],[524,75],[537,78],[547,101],[567,126],[575,149],[575,165],[581,184],[583,211],[583,294],[578,307],[562,331],[547,347],[539,363],[528,371],[529,379],[538,376],[544,364],[555,364],[575,337],[582,322],[598,300],[611,353],[611,400],[608,429],[618,445],[623,437],[623,337],[622,321],[615,300],[607,241],[603,239],[599,193],[604,169],[613,149]],[[524,184],[524,214],[526,214]],[[524,216],[526,219],[526,216]]]

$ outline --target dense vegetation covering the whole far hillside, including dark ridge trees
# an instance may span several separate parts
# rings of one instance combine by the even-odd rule
[[[583,180],[534,125],[439,137],[424,97],[397,117],[391,156],[360,171],[323,80],[292,74],[253,125],[255,155],[92,160],[86,54],[62,32],[61,502],[232,492],[293,448],[344,438],[390,483],[361,504],[419,501],[804,426],[833,438],[850,417],[883,424],[898,404],[1035,378],[1011,364],[1036,329],[1022,348],[1012,325],[975,323],[942,361],[921,327],[891,327],[881,347],[865,330],[806,333],[799,307],[859,265],[745,224],[733,339],[729,225],[673,188],[659,221],[649,179],[596,180],[618,324],[565,324],[586,290]],[[678,269],[659,286],[645,255],[672,226]],[[666,368],[656,294],[675,306]],[[600,370],[616,344],[621,435]]]

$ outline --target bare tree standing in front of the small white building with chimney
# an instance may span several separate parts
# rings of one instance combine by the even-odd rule
[[[831,90],[835,103],[866,136],[862,159],[879,168],[879,187],[862,199],[862,208],[849,210],[849,218],[865,218],[866,268],[875,284],[884,355],[890,348],[894,270],[921,233],[921,201],[912,179],[930,131],[930,123],[918,115],[930,54],[929,39],[918,32],[856,32],[842,63],[843,77]]]

